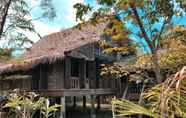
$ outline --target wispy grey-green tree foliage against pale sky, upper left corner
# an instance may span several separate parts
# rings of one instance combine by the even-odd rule
[[[14,49],[23,49],[25,45],[32,44],[30,37],[25,35],[26,32],[35,33],[33,21],[41,18],[53,19],[55,8],[52,5],[52,0],[41,0],[38,6],[31,6],[26,0],[2,0],[0,5],[0,38],[6,39],[6,47]],[[32,7],[32,8],[31,8]],[[33,9],[39,7],[41,14],[38,18],[33,18],[31,12]]]

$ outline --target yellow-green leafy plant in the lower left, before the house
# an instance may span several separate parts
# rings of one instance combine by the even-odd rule
[[[17,117],[31,118],[36,110],[40,109],[44,100],[44,98],[35,100],[36,96],[35,93],[21,94],[19,91],[15,90],[8,95],[8,102],[5,104],[4,108],[10,108],[10,114],[14,113]]]

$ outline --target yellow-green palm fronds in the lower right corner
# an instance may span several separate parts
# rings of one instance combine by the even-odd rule
[[[146,106],[128,100],[112,101],[115,116],[146,115],[154,118],[186,117],[186,67],[144,94]]]

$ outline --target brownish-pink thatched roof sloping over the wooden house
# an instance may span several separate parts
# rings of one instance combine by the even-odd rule
[[[41,63],[52,63],[56,59],[64,58],[65,52],[80,46],[100,40],[106,23],[92,25],[85,23],[60,32],[44,36],[33,44],[19,60],[0,63],[0,73],[28,70]]]

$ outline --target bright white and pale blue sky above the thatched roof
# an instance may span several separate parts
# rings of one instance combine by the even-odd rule
[[[29,2],[31,6],[39,4],[38,0]],[[36,31],[41,36],[44,36],[77,25],[76,10],[73,8],[76,3],[96,4],[95,0],[53,0],[57,16],[53,20],[41,19],[34,21]],[[32,17],[37,17],[38,14],[41,14],[39,10],[32,11]],[[39,37],[34,33],[26,32],[26,35],[34,42],[39,40]]]

